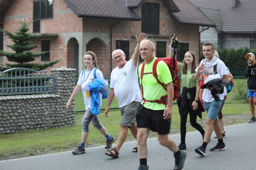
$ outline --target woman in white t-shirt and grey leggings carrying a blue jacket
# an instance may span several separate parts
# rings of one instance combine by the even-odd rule
[[[91,107],[91,103],[92,98],[91,96],[93,94],[90,95],[90,90],[88,88],[89,84],[91,84],[93,81],[95,81],[96,79],[100,79],[102,81],[102,83],[104,83],[101,87],[103,87],[101,90],[105,91],[106,87],[106,82],[105,79],[103,77],[102,72],[97,69],[95,74],[96,74],[96,79],[94,80],[94,69],[97,68],[96,65],[96,54],[93,51],[87,51],[84,54],[84,64],[86,66],[86,70],[82,71],[79,75],[79,79],[77,81],[77,85],[75,87],[75,89],[73,90],[67,104],[66,104],[66,109],[68,110],[71,107],[71,102],[72,100],[75,98],[75,96],[77,95],[77,93],[80,91],[81,87],[82,87],[82,93],[83,93],[83,99],[84,99],[84,105],[85,105],[85,114],[84,117],[82,119],[82,137],[81,137],[81,143],[78,146],[78,148],[76,150],[74,150],[72,153],[75,155],[78,154],[82,154],[85,153],[85,143],[86,140],[88,138],[89,135],[89,123],[91,122],[93,124],[93,126],[106,138],[106,149],[109,149],[112,147],[112,143],[115,141],[115,137],[110,136],[109,133],[106,131],[105,127],[100,123],[99,117],[98,117],[98,113],[94,113],[94,111],[98,110],[100,111],[100,108],[97,109],[93,109],[93,107]],[[100,105],[102,103],[102,94],[99,92],[98,93],[98,98],[100,100]],[[98,105],[97,107],[100,107],[100,105]],[[92,108],[92,109],[91,109]]]

